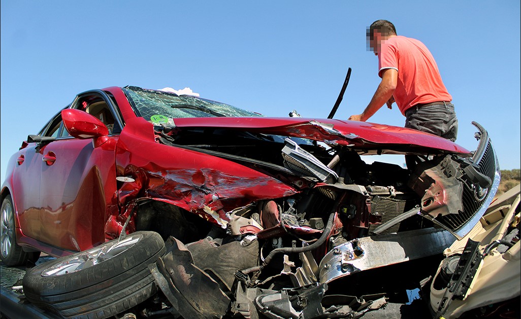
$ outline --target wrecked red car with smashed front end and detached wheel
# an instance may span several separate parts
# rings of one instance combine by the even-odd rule
[[[61,257],[23,291],[65,317],[361,316],[396,295],[382,269],[441,254],[488,208],[499,165],[474,124],[471,152],[402,127],[87,91],[9,162],[2,262]],[[418,160],[363,160],[383,154]]]

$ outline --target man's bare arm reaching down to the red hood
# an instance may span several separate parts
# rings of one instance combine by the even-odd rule
[[[352,115],[349,117],[351,121],[367,121],[376,113],[387,101],[392,97],[398,82],[398,71],[395,69],[386,69],[382,71],[382,81],[378,85],[373,98],[362,114]]]

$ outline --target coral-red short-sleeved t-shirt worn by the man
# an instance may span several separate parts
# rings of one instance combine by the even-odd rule
[[[397,35],[382,41],[378,54],[380,78],[384,69],[398,71],[393,96],[404,115],[408,108],[416,104],[452,101],[441,81],[434,57],[425,44],[416,39]]]

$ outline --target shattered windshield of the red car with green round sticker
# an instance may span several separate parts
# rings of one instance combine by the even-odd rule
[[[136,86],[122,88],[137,116],[153,123],[168,123],[172,118],[259,117],[228,104],[190,95],[146,90]]]

